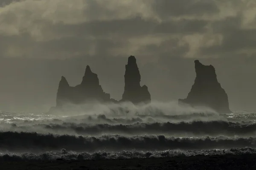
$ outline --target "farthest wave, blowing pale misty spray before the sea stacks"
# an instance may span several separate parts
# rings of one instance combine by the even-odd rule
[[[81,110],[81,111],[77,111]],[[105,117],[103,117],[103,115]],[[120,104],[92,104],[92,105],[76,105],[76,108],[69,108],[68,111],[54,114],[33,114],[33,113],[0,113],[0,121],[8,123],[19,123],[24,121],[51,121],[59,119],[65,122],[84,121],[84,123],[128,123],[131,122],[166,122],[172,120],[195,120],[204,119],[217,120],[220,119],[218,113],[207,108],[188,108],[181,107],[175,102],[151,102],[146,105],[133,105],[130,102]],[[194,119],[195,118],[195,119]],[[207,120],[205,119],[205,120]]]

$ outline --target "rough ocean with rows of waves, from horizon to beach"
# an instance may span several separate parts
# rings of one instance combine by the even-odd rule
[[[127,159],[256,153],[256,113],[177,102],[0,112],[0,160]]]

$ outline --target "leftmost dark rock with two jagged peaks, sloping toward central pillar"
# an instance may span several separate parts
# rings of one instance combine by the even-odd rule
[[[61,107],[66,103],[83,104],[87,101],[113,101],[113,99],[110,98],[110,94],[102,90],[97,74],[93,73],[88,65],[80,85],[71,87],[67,79],[63,76],[61,77],[58,86],[56,107]]]

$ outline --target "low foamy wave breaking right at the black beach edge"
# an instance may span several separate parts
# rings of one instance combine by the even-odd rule
[[[54,160],[99,160],[99,159],[132,159],[132,158],[162,158],[174,156],[196,156],[196,155],[238,155],[256,154],[256,149],[231,148],[229,150],[165,150],[165,151],[140,151],[123,150],[120,152],[98,151],[94,153],[77,153],[61,149],[56,152],[45,153],[0,153],[0,161],[54,161]]]

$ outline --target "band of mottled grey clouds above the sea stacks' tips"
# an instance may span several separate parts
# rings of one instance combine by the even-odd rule
[[[5,0],[2,4],[1,57],[133,54],[153,59],[163,54],[198,58],[255,53],[252,0]]]

